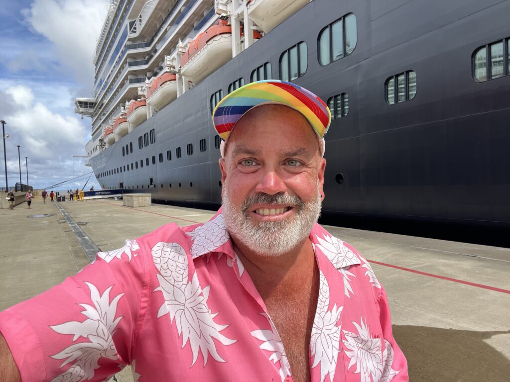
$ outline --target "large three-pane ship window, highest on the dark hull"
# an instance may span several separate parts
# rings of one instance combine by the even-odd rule
[[[317,40],[319,63],[327,65],[348,56],[358,43],[356,16],[353,13],[330,23]]]

